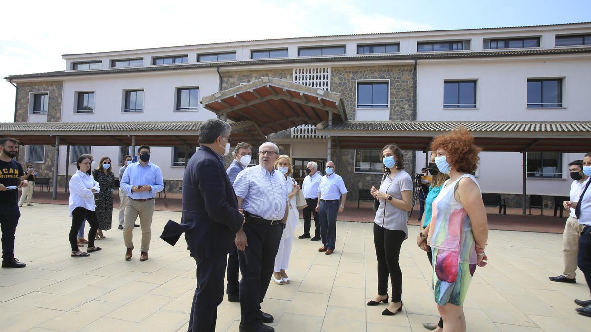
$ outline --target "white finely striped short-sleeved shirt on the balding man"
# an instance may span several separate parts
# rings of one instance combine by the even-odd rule
[[[234,191],[243,199],[244,211],[267,220],[283,219],[287,189],[280,172],[269,172],[261,165],[245,168],[234,181]]]

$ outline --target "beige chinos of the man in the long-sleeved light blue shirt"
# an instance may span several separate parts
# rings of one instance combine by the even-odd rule
[[[142,230],[141,251],[148,252],[150,250],[154,203],[153,199],[138,201],[127,197],[125,202],[125,220],[123,223],[123,243],[125,244],[125,248],[134,247],[134,224],[139,216],[139,228]]]

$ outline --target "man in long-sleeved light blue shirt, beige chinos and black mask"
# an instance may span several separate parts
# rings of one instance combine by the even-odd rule
[[[150,147],[142,145],[138,149],[139,161],[128,165],[121,179],[121,188],[127,194],[123,223],[123,242],[125,244],[125,261],[129,261],[134,250],[134,224],[139,216],[142,230],[142,246],[139,261],[148,259],[150,240],[152,238],[152,215],[154,214],[154,197],[163,190],[162,171],[150,162]]]

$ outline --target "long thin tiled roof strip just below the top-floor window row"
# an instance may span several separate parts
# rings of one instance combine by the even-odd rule
[[[591,53],[591,47],[576,48],[543,48],[536,50],[509,50],[509,51],[456,51],[447,53],[413,53],[413,54],[378,54],[364,56],[336,56],[336,57],[298,57],[298,58],[276,58],[265,60],[246,60],[246,61],[228,61],[228,62],[207,62],[194,64],[176,64],[171,66],[152,66],[152,67],[134,67],[119,69],[102,70],[72,70],[72,71],[50,71],[48,73],[20,74],[4,77],[4,79],[27,79],[35,77],[59,77],[59,76],[85,76],[113,73],[135,73],[143,71],[163,71],[163,70],[186,70],[215,67],[238,67],[252,66],[261,64],[297,64],[297,63],[326,63],[326,62],[346,62],[346,61],[376,61],[376,60],[421,60],[421,59],[441,59],[441,58],[472,58],[472,57],[514,57],[514,56],[538,56],[548,54],[575,54]]]

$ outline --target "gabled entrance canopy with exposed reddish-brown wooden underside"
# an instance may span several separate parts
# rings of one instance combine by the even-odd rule
[[[261,77],[203,97],[203,106],[235,122],[253,121],[259,136],[299,125],[347,120],[340,94],[274,77]]]

